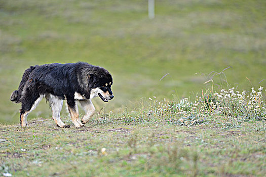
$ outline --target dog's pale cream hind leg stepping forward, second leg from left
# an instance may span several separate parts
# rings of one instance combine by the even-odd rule
[[[60,118],[60,112],[61,112],[62,107],[63,107],[63,100],[59,99],[58,97],[51,95],[51,94],[46,95],[46,99],[50,103],[52,113],[53,113],[53,119],[54,119],[56,125],[61,127],[61,128],[69,128],[70,126],[64,124]]]

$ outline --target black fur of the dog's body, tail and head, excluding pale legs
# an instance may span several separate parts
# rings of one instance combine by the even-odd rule
[[[40,95],[46,94],[66,98],[68,106],[73,108],[75,92],[90,99],[91,89],[109,82],[112,83],[112,77],[106,69],[85,62],[30,66],[10,100],[21,103],[21,114],[29,111]],[[112,94],[110,86],[109,93]]]

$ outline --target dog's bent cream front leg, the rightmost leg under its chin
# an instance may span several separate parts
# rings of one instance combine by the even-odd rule
[[[85,124],[94,115],[95,107],[93,106],[91,100],[80,100],[80,104],[81,104],[82,108],[84,109],[84,111],[86,112],[85,115],[83,116],[83,118],[81,119],[81,122]]]

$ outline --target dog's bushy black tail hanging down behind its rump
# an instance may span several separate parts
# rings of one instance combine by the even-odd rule
[[[21,94],[24,88],[25,83],[27,82],[30,73],[36,68],[36,66],[30,66],[28,69],[25,70],[21,82],[19,84],[18,90],[14,91],[11,96],[10,100],[15,103],[20,103]]]

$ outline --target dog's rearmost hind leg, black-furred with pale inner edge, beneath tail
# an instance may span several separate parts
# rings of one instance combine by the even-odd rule
[[[25,94],[27,95],[27,94]],[[21,109],[20,109],[20,124],[22,127],[28,126],[27,123],[27,116],[28,114],[33,111],[37,105],[40,103],[40,101],[44,98],[43,95],[31,95],[29,97],[23,97],[21,101]]]

